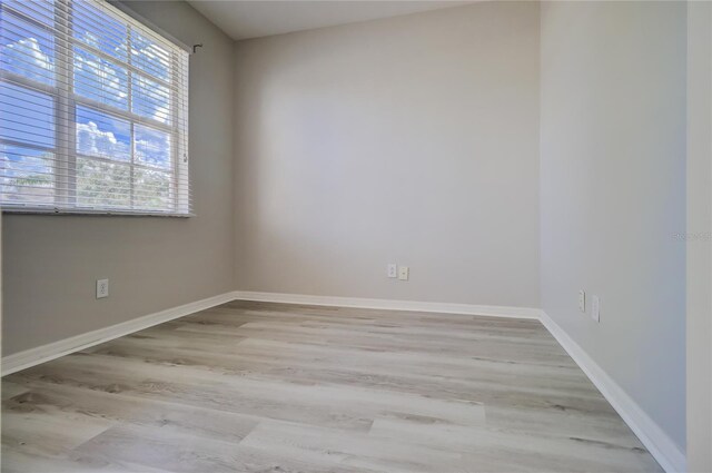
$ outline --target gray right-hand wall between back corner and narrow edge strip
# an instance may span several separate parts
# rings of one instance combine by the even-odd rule
[[[542,305],[684,451],[685,3],[541,18]]]

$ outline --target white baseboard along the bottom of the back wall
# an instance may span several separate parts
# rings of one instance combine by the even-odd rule
[[[334,307],[375,308],[384,311],[435,312],[442,314],[487,315],[492,317],[538,319],[540,309],[474,304],[432,303],[417,300],[369,299],[363,297],[309,296],[304,294],[256,293],[236,290],[236,299],[283,304],[305,304]]]

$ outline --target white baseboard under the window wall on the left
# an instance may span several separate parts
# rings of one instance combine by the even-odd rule
[[[231,292],[220,294],[206,299],[134,318],[109,327],[99,328],[98,331],[87,332],[86,334],[60,339],[59,342],[49,343],[36,348],[13,353],[12,355],[2,357],[0,372],[2,373],[2,376],[4,376],[7,374],[29,368],[30,366],[39,365],[40,363],[49,362],[50,359],[59,358],[60,356],[78,352],[134,332],[142,331],[144,328],[162,324],[164,322],[172,321],[174,318],[205,311],[206,308],[215,307],[234,299],[235,296]]]

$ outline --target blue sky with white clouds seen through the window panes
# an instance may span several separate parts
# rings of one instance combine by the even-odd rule
[[[0,0],[0,3],[31,13],[26,2]],[[50,2],[34,3],[33,8],[37,9],[38,4],[49,6]],[[88,2],[81,6],[86,10],[81,14],[91,20],[83,20],[81,14],[75,19],[73,37],[79,40],[73,47],[75,93],[120,110],[128,110],[131,96],[132,112],[169,125],[170,95],[165,86],[148,75],[129,75],[126,68],[100,58],[83,46],[127,61],[129,51],[125,27]],[[41,21],[44,17],[40,13],[32,13],[33,18]],[[44,14],[44,19],[51,16],[51,6]],[[102,33],[105,30],[112,33]],[[131,43],[131,62],[139,70],[159,78],[170,77],[166,51],[135,31]],[[57,67],[53,47],[53,38],[47,30],[17,17],[10,18],[9,13],[0,16],[0,68],[53,86]],[[53,99],[50,95],[0,82],[0,137],[46,148],[0,146],[0,175],[14,177],[49,171],[48,161],[40,157],[51,152],[56,145],[52,115]],[[126,162],[130,160],[134,147],[137,161],[157,169],[171,166],[170,135],[158,128],[136,124],[131,138],[131,127],[126,119],[77,105],[76,129],[78,154]]]

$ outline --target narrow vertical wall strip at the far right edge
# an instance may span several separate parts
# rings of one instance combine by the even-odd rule
[[[688,3],[688,469],[712,472],[712,3]]]

